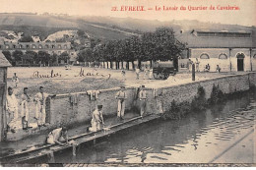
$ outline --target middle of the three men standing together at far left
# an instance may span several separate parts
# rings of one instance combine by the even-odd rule
[[[22,115],[22,123],[23,129],[27,130],[29,128],[29,118],[30,118],[30,106],[31,97],[28,95],[28,87],[24,87],[24,93],[21,96],[21,115]]]

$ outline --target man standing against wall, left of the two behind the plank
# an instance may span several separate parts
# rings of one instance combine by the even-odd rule
[[[117,99],[117,118],[123,120],[124,111],[125,111],[125,99],[126,99],[126,92],[124,91],[125,86],[120,86],[121,90],[119,90],[115,98]]]

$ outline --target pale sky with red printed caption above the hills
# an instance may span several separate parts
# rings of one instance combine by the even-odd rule
[[[238,7],[239,10],[210,10],[213,7]],[[120,11],[122,6],[144,6],[146,11]],[[156,11],[156,6],[160,11]],[[162,11],[164,7],[177,10]],[[181,11],[180,7],[186,7]],[[192,10],[189,7],[207,7]],[[111,11],[117,7],[118,11]],[[153,8],[153,10],[148,10]],[[189,8],[192,9],[192,8]],[[144,20],[198,20],[242,26],[256,26],[256,0],[0,0],[0,13],[57,13],[71,16],[110,16]]]

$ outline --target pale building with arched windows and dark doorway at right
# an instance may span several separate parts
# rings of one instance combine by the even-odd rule
[[[256,44],[253,31],[191,30],[179,32],[177,39],[186,43],[183,58],[198,59],[200,71],[207,64],[215,72],[256,71]]]

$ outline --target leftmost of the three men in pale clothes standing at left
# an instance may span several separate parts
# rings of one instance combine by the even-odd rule
[[[15,122],[18,119],[18,101],[13,93],[13,88],[8,87],[8,94],[6,96],[6,120],[7,120],[7,131],[15,133],[16,125]]]

